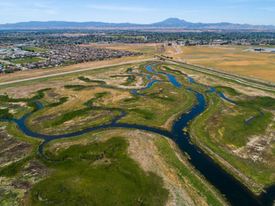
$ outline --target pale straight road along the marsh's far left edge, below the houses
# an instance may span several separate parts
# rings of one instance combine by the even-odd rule
[[[122,62],[122,63],[118,63],[118,64],[113,64],[113,65],[104,65],[104,66],[100,66],[100,67],[93,67],[93,68],[87,68],[87,69],[77,69],[74,71],[63,71],[60,73],[52,73],[52,74],[48,74],[48,75],[42,75],[39,77],[34,77],[34,78],[25,78],[22,80],[14,80],[14,81],[8,81],[8,82],[0,82],[0,85],[5,85],[5,84],[12,84],[12,83],[16,83],[16,82],[25,82],[25,81],[29,81],[29,80],[37,80],[37,79],[41,79],[41,78],[47,78],[47,77],[52,77],[52,76],[61,76],[63,74],[68,74],[68,73],[77,73],[79,71],[89,71],[89,70],[93,70],[93,69],[100,69],[103,67],[113,67],[113,66],[118,66],[118,65],[126,65],[126,64],[130,64],[130,63],[137,63],[137,62],[145,62],[148,60],[157,60],[157,58],[147,58],[147,59],[142,59],[142,60],[133,60],[133,61],[129,61],[129,62]],[[64,68],[65,69],[65,68]],[[52,70],[54,71],[54,70]],[[41,73],[43,72],[49,72],[49,71],[41,71]]]

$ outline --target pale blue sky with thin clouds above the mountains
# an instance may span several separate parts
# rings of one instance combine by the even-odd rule
[[[155,23],[170,17],[193,23],[275,25],[275,0],[0,0],[0,23]]]

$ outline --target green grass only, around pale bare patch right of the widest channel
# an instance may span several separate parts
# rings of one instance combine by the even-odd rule
[[[227,108],[217,94],[209,93],[208,98],[213,104],[191,124],[191,128],[199,140],[259,185],[263,187],[270,185],[271,181],[275,181],[272,177],[275,174],[273,163],[265,164],[261,161],[243,159],[232,155],[229,148],[233,147],[231,150],[241,148],[248,143],[248,137],[255,137],[255,135],[261,137],[266,134],[267,127],[270,126],[274,118],[272,113],[263,111],[263,117],[253,119],[248,125],[245,125],[245,120],[259,116],[260,113],[255,108],[259,105],[271,106],[270,102],[273,100],[256,98],[258,100],[255,100],[255,104],[252,104],[254,102],[252,100],[242,100],[243,105],[253,107],[234,105],[232,108]],[[195,141],[195,139],[193,140]],[[271,157],[266,156],[265,158],[268,160]],[[233,173],[233,175],[236,174]],[[261,192],[254,187],[250,188],[254,192]]]

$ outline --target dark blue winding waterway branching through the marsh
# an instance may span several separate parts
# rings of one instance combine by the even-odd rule
[[[162,73],[162,72],[157,72],[152,69],[152,65],[148,65],[146,67],[148,71],[151,71],[152,73],[160,73],[162,75],[165,75],[168,77],[170,82],[175,86],[175,87],[181,87],[181,84],[177,82],[174,76],[168,74],[168,73]],[[153,86],[155,82],[159,81],[153,81],[149,76],[146,76],[150,82],[148,83],[147,87],[143,89],[148,89]],[[190,80],[191,83],[195,83],[192,78],[186,76]],[[198,84],[203,87],[208,87],[205,85]],[[102,87],[104,87],[104,84],[102,84]],[[107,87],[108,88],[108,87]],[[208,87],[210,90],[207,91],[208,93],[210,92],[216,92],[218,93],[221,98],[224,100],[227,100],[228,102],[231,102],[232,104],[236,104],[236,102],[233,102],[232,100],[228,99],[223,95],[223,93],[215,91],[214,88]],[[118,89],[118,88],[110,88],[110,89]],[[133,89],[131,90],[132,93],[136,94],[137,91],[140,91],[142,89]],[[119,124],[117,121],[124,117],[126,113],[122,111],[122,115],[119,117],[116,117],[113,119],[113,121],[110,124],[105,124],[102,126],[96,126],[93,128],[89,128],[87,130],[81,130],[75,133],[69,133],[65,135],[43,135],[39,133],[34,133],[32,130],[30,130],[26,125],[25,125],[25,119],[27,119],[32,113],[29,113],[28,115],[25,115],[21,119],[1,119],[1,120],[8,120],[8,121],[13,121],[17,123],[19,126],[20,130],[25,133],[25,135],[28,135],[30,137],[35,137],[35,138],[42,138],[44,139],[43,143],[39,146],[39,153],[45,157],[43,154],[43,148],[45,144],[48,142],[52,141],[53,139],[61,139],[61,138],[67,138],[67,137],[75,137],[78,135],[82,135],[84,133],[89,133],[94,130],[98,129],[104,129],[104,128],[135,128],[135,129],[140,129],[140,130],[145,130],[148,132],[152,133],[157,133],[159,135],[164,135],[170,139],[173,139],[179,146],[179,148],[183,152],[187,152],[187,154],[190,156],[190,163],[199,171],[203,176],[206,177],[206,179],[216,187],[221,194],[223,194],[227,200],[230,202],[230,205],[236,205],[236,206],[245,206],[245,205],[272,205],[273,200],[275,198],[275,186],[269,187],[266,190],[266,193],[263,192],[261,196],[255,196],[250,190],[248,190],[243,183],[238,181],[237,179],[234,178],[234,176],[228,174],[221,166],[217,163],[215,163],[208,155],[206,155],[201,148],[190,144],[190,135],[188,133],[183,133],[183,128],[188,126],[188,122],[190,120],[194,119],[197,115],[202,113],[204,109],[206,108],[206,100],[204,96],[201,93],[198,93],[197,91],[194,91],[192,89],[188,89],[189,91],[192,91],[195,93],[197,96],[197,101],[199,102],[197,105],[193,106],[188,113],[184,113],[177,119],[177,121],[174,122],[173,127],[171,132],[167,132],[164,130],[160,130],[157,128],[152,128],[149,126],[142,126],[142,125],[135,125],[135,124]],[[34,101],[35,102],[35,101]],[[40,102],[36,102],[36,104],[39,105],[39,110],[43,108],[43,105]],[[101,108],[98,108],[101,109]],[[263,115],[263,113],[261,113]],[[261,116],[259,116],[261,117]],[[256,118],[256,117],[252,117]],[[247,123],[252,120],[252,118],[248,119]]]

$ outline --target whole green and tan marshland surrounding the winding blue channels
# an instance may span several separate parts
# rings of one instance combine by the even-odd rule
[[[208,54],[217,56],[215,50],[210,50]],[[228,53],[235,49],[222,50]],[[182,133],[189,131],[193,143],[201,146],[253,192],[259,193],[259,187],[275,183],[274,93],[243,87],[169,62],[158,61],[153,65],[153,70],[173,75],[181,84],[181,87],[175,87],[163,74],[145,69],[146,65],[157,62],[148,58],[126,58],[124,63],[120,60],[116,65],[102,61],[98,62],[102,63],[98,67],[90,67],[87,63],[60,70],[34,71],[34,74],[22,73],[19,80],[45,77],[45,73],[53,76],[14,82],[14,87],[3,85],[0,115],[22,117],[37,110],[36,104],[28,104],[30,100],[36,100],[44,107],[25,121],[36,133],[60,135],[85,130],[110,123],[122,111],[126,115],[118,123],[170,131],[177,117],[188,113],[197,104],[195,93],[186,90],[192,89],[204,95],[206,110]],[[186,75],[197,84],[190,82]],[[11,80],[14,76],[5,77]],[[159,82],[137,91],[153,80]],[[210,89],[199,84],[214,87],[238,104],[221,99],[217,93],[205,93]],[[131,89],[135,91],[131,92]],[[259,116],[259,111],[263,116],[246,124],[251,117]],[[54,161],[47,161],[37,152],[39,140],[25,137],[13,123],[0,121],[0,124],[8,148],[19,140],[24,144],[27,142],[25,152],[8,151],[0,165],[0,176],[5,183],[0,191],[5,191],[7,195],[3,200],[9,203],[13,198],[23,205],[67,205],[68,201],[76,205],[80,201],[87,205],[225,204],[219,192],[213,190],[186,161],[188,154],[181,153],[173,141],[161,135],[133,129],[97,130],[50,141],[44,152]],[[10,157],[12,161],[9,161]],[[44,172],[38,177],[25,172],[28,167]],[[8,176],[9,173],[12,175]],[[98,184],[93,185],[94,182]],[[126,190],[124,185],[129,185],[130,189]],[[107,194],[112,198],[104,198]]]

